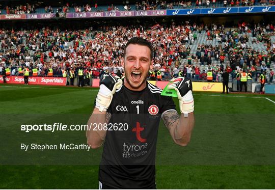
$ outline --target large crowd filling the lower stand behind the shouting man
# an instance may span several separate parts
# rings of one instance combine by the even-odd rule
[[[199,44],[196,52],[191,53],[190,45],[201,33],[207,35],[208,40],[217,39],[219,45]],[[256,37],[255,43],[265,45],[267,53],[245,43],[249,41],[249,34]],[[271,62],[275,61],[275,43],[270,40],[274,35],[272,24],[246,23],[240,23],[238,29],[186,22],[167,27],[159,25],[155,30],[133,25],[101,26],[96,31],[0,30],[0,71],[9,67],[11,75],[17,75],[19,66],[28,66],[30,70],[38,68],[40,76],[46,76],[49,68],[56,76],[62,75],[62,69],[69,71],[70,68],[76,75],[79,68],[90,69],[93,77],[99,77],[102,72],[117,73],[118,70],[123,74],[124,45],[137,36],[147,38],[153,44],[154,69],[161,71],[162,79],[171,79],[182,72],[184,76],[204,80],[206,72],[211,70],[213,80],[221,81],[225,69],[234,78],[242,68],[257,80],[263,71],[270,73]]]

